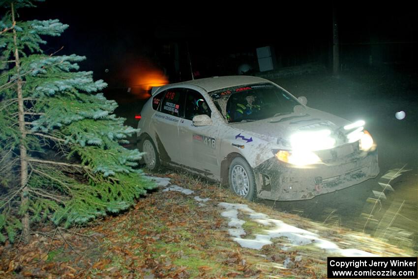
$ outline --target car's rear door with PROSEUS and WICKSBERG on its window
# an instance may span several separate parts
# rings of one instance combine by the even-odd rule
[[[184,113],[184,97],[182,89],[166,90],[159,109],[151,121],[156,132],[156,144],[160,156],[168,162],[180,163],[178,125]]]

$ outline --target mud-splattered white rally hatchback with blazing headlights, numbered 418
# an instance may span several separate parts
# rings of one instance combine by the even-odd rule
[[[378,175],[363,125],[309,108],[268,80],[229,76],[158,88],[137,138],[151,170],[185,169],[249,200],[301,200]]]

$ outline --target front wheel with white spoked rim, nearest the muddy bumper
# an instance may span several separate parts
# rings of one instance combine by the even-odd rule
[[[256,198],[254,172],[244,158],[236,157],[232,160],[228,179],[229,186],[236,195],[250,201]]]

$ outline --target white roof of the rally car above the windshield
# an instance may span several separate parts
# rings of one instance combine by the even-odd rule
[[[195,79],[189,81],[183,81],[179,83],[172,83],[162,87],[169,88],[169,87],[177,87],[179,85],[194,85],[199,86],[200,88],[204,89],[206,92],[211,92],[223,88],[234,87],[239,85],[245,85],[250,83],[264,83],[269,82],[266,79],[253,77],[253,76],[223,76],[223,77],[211,77],[211,78],[202,78],[202,79]]]

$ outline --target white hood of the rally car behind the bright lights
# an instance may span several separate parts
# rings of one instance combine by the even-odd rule
[[[350,124],[349,121],[335,115],[308,107],[299,107],[299,109],[295,109],[295,112],[290,114],[253,122],[238,123],[234,124],[234,128],[254,133],[254,136],[287,146],[290,136],[297,131],[329,129],[336,133],[340,127]],[[336,139],[338,144],[340,140]]]

